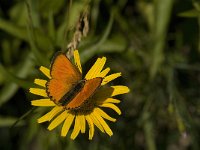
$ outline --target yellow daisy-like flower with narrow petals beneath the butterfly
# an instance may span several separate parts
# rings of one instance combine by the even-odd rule
[[[82,67],[80,63],[80,56],[78,50],[74,51],[74,61],[75,65],[82,73]],[[61,136],[66,136],[70,127],[73,128],[71,133],[71,139],[75,139],[78,134],[85,133],[86,125],[89,126],[89,139],[91,140],[94,135],[94,125],[103,133],[108,134],[109,136],[113,135],[112,130],[106,123],[105,119],[115,122],[116,119],[110,117],[106,114],[102,108],[110,108],[114,110],[117,114],[121,114],[120,109],[116,106],[120,100],[113,98],[116,95],[125,94],[129,92],[129,88],[122,85],[117,86],[104,86],[110,81],[121,76],[121,73],[114,73],[108,75],[110,68],[103,70],[103,67],[106,62],[106,57],[98,58],[95,64],[91,67],[88,73],[85,76],[86,80],[90,80],[96,77],[102,77],[103,81],[101,87],[94,93],[92,98],[85,104],[83,107],[78,108],[77,110],[66,110],[64,106],[57,105],[54,103],[46,93],[46,83],[47,80],[35,79],[34,83],[39,85],[39,88],[30,88],[30,92],[35,95],[42,96],[44,98],[33,100],[31,104],[33,106],[40,107],[53,107],[50,112],[39,118],[38,123],[43,123],[46,121],[51,122],[48,126],[48,130],[53,130],[58,125],[63,123],[61,129]],[[40,67],[40,71],[48,77],[48,80],[51,79],[50,70],[43,66]],[[74,122],[74,123],[73,123]],[[74,124],[74,126],[73,126]]]

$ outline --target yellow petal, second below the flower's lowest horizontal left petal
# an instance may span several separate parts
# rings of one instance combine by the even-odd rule
[[[62,112],[59,116],[57,116],[48,126],[48,130],[53,130],[55,127],[60,125],[65,118],[67,117],[67,111]]]

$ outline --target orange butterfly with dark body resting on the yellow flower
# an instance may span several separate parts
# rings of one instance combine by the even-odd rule
[[[100,87],[103,78],[82,79],[82,73],[62,52],[57,52],[51,62],[51,79],[46,92],[52,101],[66,109],[78,109]]]

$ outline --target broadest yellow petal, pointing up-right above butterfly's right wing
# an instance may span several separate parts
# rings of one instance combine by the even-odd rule
[[[95,64],[91,67],[85,76],[86,80],[93,79],[99,75],[106,63],[106,57],[98,58]]]

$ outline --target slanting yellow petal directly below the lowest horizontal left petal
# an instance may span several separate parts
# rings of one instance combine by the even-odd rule
[[[42,123],[45,121],[51,121],[51,119],[56,116],[59,112],[61,112],[63,110],[62,107],[60,106],[55,106],[50,112],[48,112],[47,114],[45,114],[44,116],[40,117],[37,122],[38,123]]]

